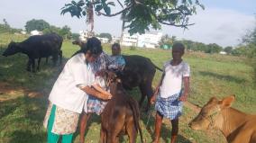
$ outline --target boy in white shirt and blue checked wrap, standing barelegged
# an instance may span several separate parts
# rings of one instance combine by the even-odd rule
[[[171,143],[175,143],[178,137],[178,117],[182,112],[182,103],[187,101],[189,92],[190,67],[181,58],[184,52],[183,44],[176,43],[173,45],[172,59],[164,64],[160,84],[151,97],[151,103],[156,101],[155,108],[157,111],[153,143],[160,142],[160,128],[163,117],[171,121]]]

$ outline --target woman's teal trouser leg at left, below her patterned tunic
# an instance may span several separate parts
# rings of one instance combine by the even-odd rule
[[[48,121],[48,128],[47,128],[47,142],[48,143],[57,143],[59,140],[59,135],[51,132],[53,123],[54,123],[54,118],[55,118],[55,111],[56,111],[56,105],[52,105],[51,112],[50,112],[50,118]]]

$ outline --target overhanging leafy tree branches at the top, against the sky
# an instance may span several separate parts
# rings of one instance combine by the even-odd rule
[[[119,5],[119,6],[117,6]],[[116,6],[113,8],[113,6]],[[72,17],[87,17],[87,23],[91,24],[93,31],[94,11],[96,15],[112,17],[121,14],[123,27],[130,34],[144,33],[150,28],[161,29],[161,24],[187,29],[189,16],[197,13],[197,7],[204,9],[204,5],[198,0],[125,0],[121,3],[107,0],[72,0],[61,8],[61,14],[70,13]],[[117,9],[117,12],[112,12]],[[127,25],[124,26],[124,24]]]

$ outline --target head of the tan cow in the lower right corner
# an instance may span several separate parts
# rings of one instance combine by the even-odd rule
[[[221,101],[212,97],[188,126],[193,130],[207,130],[214,128],[223,120],[221,112],[224,109],[229,108],[233,101],[234,95],[227,96]]]

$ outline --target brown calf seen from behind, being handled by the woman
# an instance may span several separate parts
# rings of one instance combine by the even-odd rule
[[[135,143],[138,130],[143,140],[138,103],[127,95],[114,72],[106,71],[105,74],[113,98],[101,114],[100,143],[118,143],[123,134],[128,134],[130,143]]]

